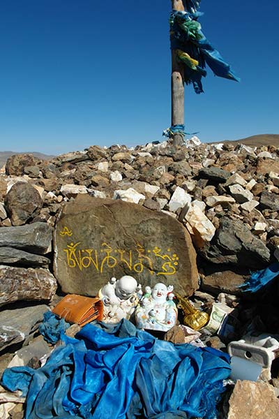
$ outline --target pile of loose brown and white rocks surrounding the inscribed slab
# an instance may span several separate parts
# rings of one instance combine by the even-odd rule
[[[238,286],[251,270],[279,259],[278,148],[162,142],[133,149],[94,145],[51,161],[11,156],[0,174],[0,351],[10,346],[0,358],[2,367],[15,343],[30,341],[45,302],[56,293],[54,226],[63,204],[81,194],[173,217],[188,230],[197,252],[200,289],[193,301],[206,306],[220,293],[230,295],[229,304],[242,308],[242,325],[264,312],[255,302],[239,305]],[[15,302],[20,314],[6,306]],[[28,314],[30,309],[36,314]],[[278,320],[271,311],[266,329]]]

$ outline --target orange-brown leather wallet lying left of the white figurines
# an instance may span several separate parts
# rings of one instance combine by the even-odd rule
[[[56,304],[52,313],[82,327],[93,320],[102,320],[103,301],[98,297],[68,294]]]

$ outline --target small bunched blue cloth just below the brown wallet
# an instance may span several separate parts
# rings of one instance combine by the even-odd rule
[[[39,326],[40,334],[50,344],[56,344],[64,332],[70,327],[64,318],[59,318],[52,311],[46,311],[43,316],[43,323]]]

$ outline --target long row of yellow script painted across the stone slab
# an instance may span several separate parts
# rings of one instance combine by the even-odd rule
[[[93,267],[96,272],[102,274],[106,269],[113,269],[116,265],[125,265],[130,272],[141,274],[148,270],[150,274],[174,275],[178,266],[179,257],[176,253],[170,255],[163,253],[159,247],[145,249],[142,244],[137,243],[136,249],[113,249],[110,244],[102,243],[101,249],[80,249],[81,242],[67,244],[66,252],[68,267],[84,270]],[[148,256],[147,256],[148,255]],[[153,256],[153,260],[152,260]]]

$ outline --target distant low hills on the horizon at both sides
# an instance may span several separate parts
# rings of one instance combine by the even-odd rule
[[[274,147],[279,147],[279,134],[257,134],[251,135],[250,137],[241,138],[240,140],[223,140],[223,141],[212,141],[211,144],[220,144],[220,143],[232,143],[232,144],[245,144],[249,147],[260,147],[261,145],[273,145]],[[75,150],[76,151],[76,150]],[[70,153],[70,152],[69,152]],[[6,163],[7,159],[14,154],[33,154],[33,156],[38,157],[38,159],[50,160],[59,154],[44,154],[40,152],[11,152],[3,151],[0,152],[0,168]],[[62,153],[64,154],[64,153]]]

